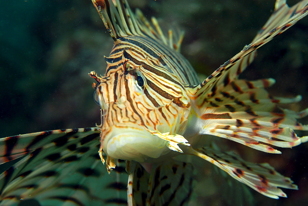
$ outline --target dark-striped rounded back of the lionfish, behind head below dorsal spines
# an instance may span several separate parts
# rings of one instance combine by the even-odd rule
[[[174,49],[158,39],[153,39],[148,36],[126,36],[119,38],[118,42],[112,48],[109,58],[120,56],[124,49],[131,49],[134,52],[135,64],[147,64],[149,66],[154,64],[158,67],[156,68],[157,70],[162,70],[161,72],[173,73],[179,83],[183,85],[197,85],[200,83],[191,64],[179,52],[175,52]],[[148,63],[146,57],[148,57]]]

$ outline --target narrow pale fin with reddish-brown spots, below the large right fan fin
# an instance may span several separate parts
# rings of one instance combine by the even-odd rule
[[[241,159],[239,155],[210,147],[199,149],[189,147],[188,153],[213,163],[234,179],[271,198],[286,197],[278,187],[298,189],[290,178],[275,171],[268,163],[250,163]]]

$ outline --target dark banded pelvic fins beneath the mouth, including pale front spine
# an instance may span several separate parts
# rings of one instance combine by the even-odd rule
[[[143,163],[143,166],[127,161],[128,205],[183,205],[189,200],[192,164],[170,159],[159,164]]]

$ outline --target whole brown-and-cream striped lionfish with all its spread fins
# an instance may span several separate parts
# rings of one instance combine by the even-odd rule
[[[252,43],[201,83],[179,53],[183,34],[169,30],[165,36],[155,18],[151,24],[140,10],[134,14],[126,0],[92,2],[114,40],[105,76],[89,73],[96,81],[101,124],[0,139],[0,164],[19,160],[0,175],[0,205],[29,200],[42,205],[186,204],[193,187],[187,155],[213,163],[271,198],[286,197],[279,187],[297,189],[267,163],[202,145],[206,136],[201,135],[274,154],[281,152],[272,146],[308,141],[294,132],[308,130],[297,122],[308,109],[296,113],[278,106],[300,96],[270,96],[265,89],[275,83],[271,78],[238,79],[257,48],[308,14],[308,0],[292,7],[276,0]]]

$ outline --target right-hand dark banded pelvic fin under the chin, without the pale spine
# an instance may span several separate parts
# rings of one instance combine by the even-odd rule
[[[191,164],[167,160],[152,168],[148,184],[148,205],[183,205],[192,191]]]

